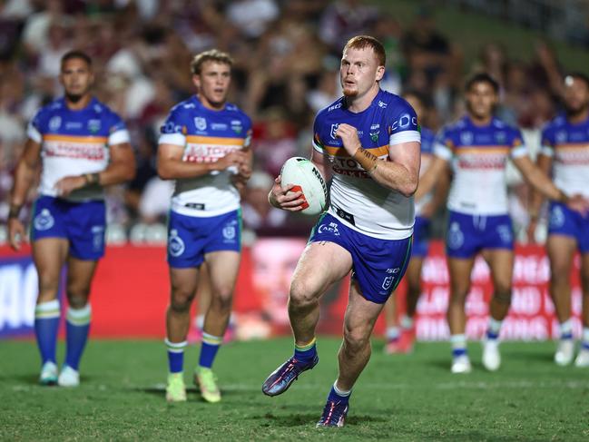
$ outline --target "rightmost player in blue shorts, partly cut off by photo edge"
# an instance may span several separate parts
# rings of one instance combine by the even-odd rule
[[[566,113],[555,118],[542,132],[538,166],[552,172],[556,185],[568,195],[582,194],[589,200],[589,78],[571,74],[564,78]],[[542,195],[535,194],[530,228],[534,233]],[[589,213],[571,211],[562,202],[551,201],[546,250],[550,260],[550,295],[560,323],[555,363],[568,365],[574,358],[571,319],[571,270],[575,250],[581,252],[583,290],[583,338],[574,365],[589,367]],[[533,238],[533,234],[530,235]]]

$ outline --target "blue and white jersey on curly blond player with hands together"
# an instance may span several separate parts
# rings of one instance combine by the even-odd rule
[[[250,146],[251,121],[237,106],[221,111],[201,104],[196,96],[172,108],[162,125],[160,144],[182,146],[184,162],[217,162],[230,152]],[[240,193],[231,170],[176,180],[172,211],[196,217],[217,216],[240,208]]]

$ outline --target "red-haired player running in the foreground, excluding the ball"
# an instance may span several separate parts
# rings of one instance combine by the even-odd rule
[[[319,299],[352,271],[339,376],[329,391],[318,426],[341,427],[352,388],[370,358],[370,335],[378,314],[407,269],[419,176],[417,115],[397,95],[382,91],[385,51],[373,37],[351,38],[339,68],[344,96],[319,112],[312,162],[333,180],[329,211],[319,218],[292,277],[289,297],[294,355],[262,386],[280,395],[318,362],[315,329]],[[299,211],[300,192],[282,187],[270,203]]]

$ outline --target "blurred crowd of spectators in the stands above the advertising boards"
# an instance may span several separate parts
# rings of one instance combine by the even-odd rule
[[[339,96],[348,37],[372,34],[385,44],[383,89],[426,96],[422,124],[433,130],[463,112],[466,75],[485,70],[501,84],[500,116],[535,131],[558,109],[563,74],[545,42],[526,63],[489,42],[476,64],[465,65],[460,42],[437,29],[427,8],[399,23],[358,0],[0,0],[0,34],[0,221],[26,124],[61,93],[61,55],[83,49],[93,57],[95,93],[123,116],[138,163],[133,182],[108,191],[111,241],[165,240],[172,183],[155,172],[158,131],[172,105],[193,93],[189,64],[202,50],[235,58],[230,101],[254,122],[256,172],[243,217],[259,235],[309,232],[313,220],[270,208],[266,195],[286,159],[309,156],[314,115]],[[525,222],[525,190],[515,185],[514,194]]]

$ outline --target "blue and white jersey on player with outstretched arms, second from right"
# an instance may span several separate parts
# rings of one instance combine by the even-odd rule
[[[454,171],[448,209],[470,215],[508,213],[507,158],[527,155],[519,129],[495,117],[477,126],[465,116],[438,134],[434,152],[451,162]]]

